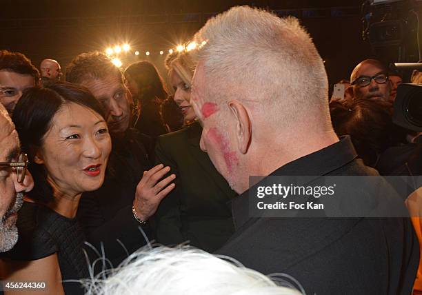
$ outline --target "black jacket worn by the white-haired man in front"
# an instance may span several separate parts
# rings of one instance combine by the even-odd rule
[[[378,175],[355,158],[345,136],[271,175]],[[391,192],[385,181],[378,185],[379,192]],[[405,210],[396,195],[394,202]],[[419,243],[409,218],[251,218],[248,191],[234,199],[232,209],[236,232],[217,254],[263,274],[289,274],[307,294],[412,292]]]

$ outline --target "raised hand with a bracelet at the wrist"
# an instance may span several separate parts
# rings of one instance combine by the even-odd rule
[[[176,186],[174,183],[168,185],[176,178],[174,174],[161,180],[169,171],[170,167],[164,167],[163,164],[159,164],[151,170],[143,172],[142,179],[137,185],[133,202],[137,216],[141,221],[147,221],[157,211],[161,200]]]

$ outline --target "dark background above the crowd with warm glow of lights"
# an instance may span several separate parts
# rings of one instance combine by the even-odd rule
[[[348,79],[370,57],[361,37],[359,0],[194,1],[194,0],[0,0],[0,48],[26,54],[35,65],[57,59],[64,70],[77,54],[128,42],[123,68],[147,59],[165,77],[168,49],[188,41],[206,19],[231,6],[248,4],[299,17],[325,60],[330,83]],[[134,50],[140,54],[135,57]],[[160,55],[163,50],[165,54]],[[145,55],[150,51],[150,56]],[[241,52],[239,52],[241,54]]]

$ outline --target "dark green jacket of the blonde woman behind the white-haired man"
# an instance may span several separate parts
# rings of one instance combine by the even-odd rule
[[[157,163],[170,166],[170,173],[177,177],[174,191],[157,210],[156,234],[164,245],[190,241],[190,245],[212,252],[232,235],[228,202],[236,193],[199,148],[201,132],[196,122],[157,139]]]

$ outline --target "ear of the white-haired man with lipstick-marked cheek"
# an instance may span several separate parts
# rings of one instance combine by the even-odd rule
[[[252,139],[252,128],[248,111],[239,101],[229,101],[228,107],[236,119],[236,137],[239,152],[246,154]]]

